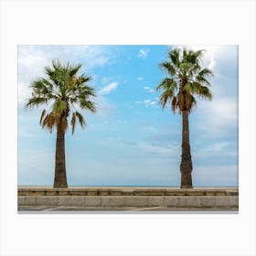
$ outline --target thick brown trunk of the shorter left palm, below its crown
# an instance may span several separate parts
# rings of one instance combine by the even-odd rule
[[[53,187],[68,187],[65,161],[65,132],[57,129],[55,153],[55,177]]]

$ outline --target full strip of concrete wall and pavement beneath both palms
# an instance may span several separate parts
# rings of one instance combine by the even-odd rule
[[[238,187],[18,187],[18,212],[238,212]]]

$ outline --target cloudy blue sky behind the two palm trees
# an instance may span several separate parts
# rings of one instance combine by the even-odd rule
[[[182,117],[159,104],[156,86],[167,77],[159,63],[184,46],[25,46],[18,51],[18,185],[52,186],[56,132],[39,125],[44,109],[26,109],[32,80],[44,76],[52,59],[82,64],[91,76],[97,112],[82,111],[87,122],[66,133],[69,186],[179,187]],[[212,101],[197,99],[189,115],[194,187],[236,187],[238,159],[237,46],[205,49],[212,69]]]

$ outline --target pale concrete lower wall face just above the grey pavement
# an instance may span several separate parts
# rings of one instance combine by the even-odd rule
[[[238,208],[238,196],[19,196],[19,206]]]

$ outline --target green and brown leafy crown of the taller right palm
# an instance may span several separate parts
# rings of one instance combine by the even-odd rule
[[[190,112],[197,101],[194,95],[211,100],[208,76],[212,75],[210,69],[200,66],[204,50],[193,51],[184,48],[175,48],[168,53],[168,59],[160,64],[170,78],[165,78],[156,90],[163,90],[160,103],[165,107],[167,101],[171,103],[173,112]]]

